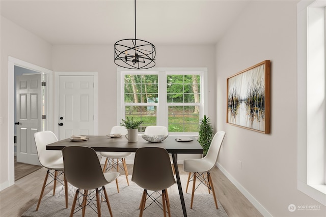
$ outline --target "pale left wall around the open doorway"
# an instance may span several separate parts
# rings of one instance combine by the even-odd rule
[[[14,82],[8,83],[8,78],[13,75],[8,75],[8,57],[26,61],[28,63],[50,69],[51,68],[51,45],[41,38],[31,34],[25,29],[17,26],[4,17],[1,17],[1,85],[0,85],[0,189],[8,187],[9,184],[9,168],[8,159],[12,158],[13,151],[8,150],[8,144],[14,146],[13,133],[11,138],[8,136],[9,130],[14,132],[14,120],[8,119],[8,101],[13,103],[13,96],[9,98],[8,89],[14,91]],[[11,89],[12,88],[12,89]],[[12,94],[13,95],[13,94]],[[13,105],[12,105],[13,106]],[[12,115],[13,117],[13,115]],[[9,156],[10,154],[10,156]],[[13,171],[12,171],[13,172]]]

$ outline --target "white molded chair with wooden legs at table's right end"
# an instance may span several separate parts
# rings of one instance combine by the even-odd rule
[[[216,209],[218,209],[218,202],[216,201],[215,196],[215,190],[214,185],[212,181],[212,177],[210,175],[210,171],[216,166],[216,162],[218,161],[218,156],[220,152],[220,148],[222,146],[223,139],[225,137],[224,131],[217,132],[209,146],[209,149],[207,151],[207,154],[204,158],[201,159],[185,159],[183,161],[183,170],[185,172],[188,172],[188,180],[187,180],[187,186],[185,192],[187,193],[188,190],[188,184],[190,181],[193,182],[193,191],[192,191],[192,200],[190,208],[193,208],[193,201],[194,201],[194,194],[196,189],[201,183],[204,183],[206,187],[208,188],[208,193],[210,194],[210,190],[213,193],[214,202]],[[206,173],[206,175],[205,175]],[[193,174],[193,175],[191,175]],[[192,180],[191,180],[192,178]],[[198,179],[200,182],[196,187],[196,179]]]

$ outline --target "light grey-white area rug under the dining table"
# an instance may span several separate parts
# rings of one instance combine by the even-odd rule
[[[187,175],[182,175],[181,180],[187,178]],[[124,175],[118,177],[119,180],[119,190],[117,193],[116,183],[112,182],[105,186],[106,192],[108,194],[108,199],[112,208],[113,216],[118,217],[128,217],[128,216],[139,216],[140,210],[138,209],[143,189],[137,184],[131,181],[131,176],[129,176],[129,186],[127,185],[126,178]],[[182,185],[185,188],[184,185]],[[192,185],[189,184],[189,188]],[[40,187],[41,188],[41,187]],[[170,209],[171,216],[183,216],[180,197],[177,191],[177,184],[173,185],[174,189],[168,189],[169,199],[170,199]],[[185,191],[185,189],[183,189]],[[22,216],[33,216],[33,217],[62,217],[69,216],[72,206],[73,196],[75,194],[75,188],[69,185],[69,197],[68,197],[68,209],[65,208],[65,194],[62,187],[58,187],[56,195],[52,196],[52,192],[45,195],[41,201],[38,211],[35,211],[36,205],[34,204],[29,210],[22,214]],[[211,194],[198,194],[195,193],[193,209],[190,208],[191,194],[184,194],[184,200],[187,210],[187,216],[198,217],[198,216],[214,216],[214,217],[227,217],[227,213],[222,207],[221,203],[218,202],[219,209],[216,209],[214,204],[214,199]],[[161,202],[161,198],[159,199]],[[146,205],[150,203],[150,199],[147,200]],[[95,202],[96,204],[96,202]],[[77,206],[77,204],[76,204]],[[95,206],[94,206],[94,209]],[[82,216],[82,211],[78,211],[74,216]],[[102,216],[110,216],[106,203],[102,203],[101,206]],[[97,216],[97,213],[89,206],[86,207],[86,216]],[[147,209],[144,210],[144,217],[147,216],[163,216],[163,211],[156,205],[152,204]]]

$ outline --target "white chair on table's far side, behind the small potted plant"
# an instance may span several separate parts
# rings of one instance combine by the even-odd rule
[[[110,134],[121,134],[121,135],[126,135],[128,133],[128,130],[125,127],[122,126],[114,126],[111,129]],[[127,164],[126,164],[126,158],[131,156],[131,152],[108,152],[108,151],[100,151],[101,156],[103,156],[105,159],[104,167],[103,167],[103,172],[109,171],[111,169],[116,170],[119,172],[119,168],[122,169],[125,173],[126,179],[127,179],[127,184],[129,185],[129,180],[128,180],[128,169],[127,169]],[[121,164],[119,164],[121,163]],[[116,185],[117,185],[117,190],[119,193],[119,184],[118,184],[118,179],[116,179]]]

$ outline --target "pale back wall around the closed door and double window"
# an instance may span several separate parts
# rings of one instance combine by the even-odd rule
[[[154,43],[154,42],[153,42]],[[215,125],[215,47],[156,45],[155,67],[207,67],[208,114]],[[195,59],[194,59],[195,58]],[[98,134],[106,135],[117,123],[117,66],[114,46],[53,46],[53,71],[98,72]],[[55,117],[56,118],[56,117]]]

